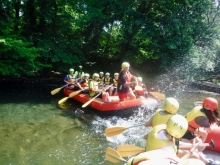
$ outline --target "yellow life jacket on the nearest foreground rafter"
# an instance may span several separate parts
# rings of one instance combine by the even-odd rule
[[[166,129],[166,124],[157,125],[152,128],[152,130],[150,131],[150,133],[148,134],[148,137],[147,137],[146,151],[152,151],[152,150],[156,150],[159,148],[172,146],[174,149],[174,152],[175,153],[177,152],[177,147],[174,144],[175,143],[174,139],[173,139],[173,141],[170,141],[170,140],[163,140],[163,139],[157,138],[157,134],[161,130],[165,130],[165,129]]]

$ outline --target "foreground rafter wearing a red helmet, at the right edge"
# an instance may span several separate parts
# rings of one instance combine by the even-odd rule
[[[191,111],[186,114],[186,119],[188,122],[188,129],[184,136],[182,137],[181,143],[187,146],[196,142],[203,143],[207,137],[207,132],[211,132],[211,125],[216,123],[220,125],[219,113],[218,113],[218,101],[215,98],[207,97],[204,99],[202,106],[196,106]],[[204,128],[204,129],[202,129]],[[202,151],[205,146],[198,148],[198,155],[200,160],[202,160],[207,165],[214,165],[216,162],[206,158]],[[181,150],[179,156],[184,155],[188,152],[188,149]]]

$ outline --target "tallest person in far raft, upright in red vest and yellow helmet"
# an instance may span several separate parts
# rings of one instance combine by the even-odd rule
[[[129,67],[130,64],[128,62],[123,62],[121,65],[122,70],[119,72],[117,92],[120,101],[136,99],[131,88],[132,85],[136,84],[136,80],[132,81],[132,79],[136,79],[136,77],[131,75]]]

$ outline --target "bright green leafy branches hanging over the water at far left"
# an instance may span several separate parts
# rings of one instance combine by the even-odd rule
[[[32,76],[39,69],[38,63],[35,63],[38,50],[29,42],[0,38],[0,54],[0,73],[3,76]]]

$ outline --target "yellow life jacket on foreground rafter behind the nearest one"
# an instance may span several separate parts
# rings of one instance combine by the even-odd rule
[[[158,109],[154,116],[153,116],[153,120],[152,120],[152,127],[155,127],[157,125],[160,125],[160,124],[166,124],[167,121],[173,116],[173,114],[171,113],[166,113],[166,114],[161,114],[163,113],[163,109]]]

